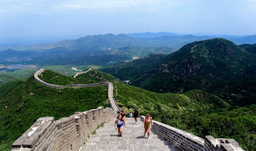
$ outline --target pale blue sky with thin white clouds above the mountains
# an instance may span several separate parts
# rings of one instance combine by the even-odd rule
[[[256,34],[256,0],[0,0],[0,38]]]

